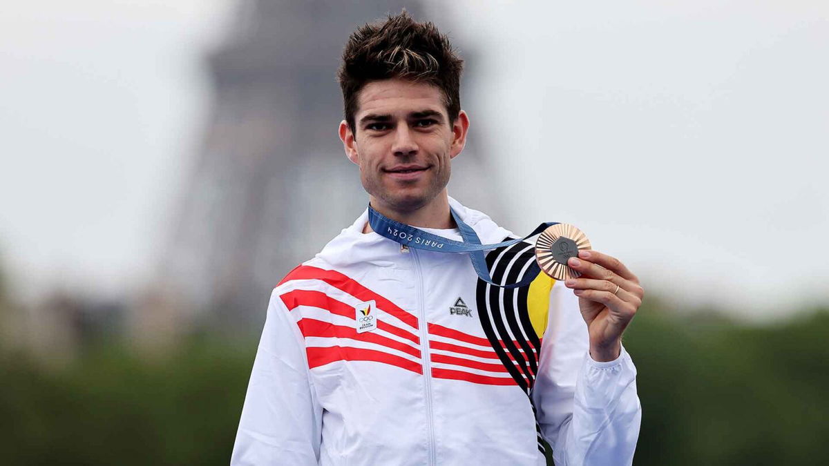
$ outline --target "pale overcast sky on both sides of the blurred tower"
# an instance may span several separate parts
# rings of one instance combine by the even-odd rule
[[[450,3],[511,230],[573,223],[677,303],[829,302],[826,2]],[[152,274],[229,5],[5,8],[0,260],[23,295]]]

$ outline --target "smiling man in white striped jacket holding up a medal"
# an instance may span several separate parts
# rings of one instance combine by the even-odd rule
[[[469,128],[461,68],[405,12],[359,28],[339,135],[381,216],[494,244],[515,235],[446,191]],[[274,289],[231,464],[545,464],[545,442],[556,464],[632,463],[641,407],[621,336],[642,288],[622,263],[582,251],[579,279],[501,288],[467,254],[392,235],[366,211]],[[533,261],[524,241],[486,255],[498,284]]]

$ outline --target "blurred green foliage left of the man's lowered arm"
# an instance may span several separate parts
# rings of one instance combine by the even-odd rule
[[[4,354],[2,464],[228,464],[254,355],[204,337],[162,360],[99,342],[61,369]]]

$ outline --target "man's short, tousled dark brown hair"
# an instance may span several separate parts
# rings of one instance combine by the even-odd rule
[[[448,37],[431,22],[415,22],[405,10],[389,16],[385,22],[358,27],[348,37],[337,72],[348,127],[356,131],[354,114],[363,86],[392,78],[439,87],[444,93],[449,122],[453,123],[461,109],[461,70],[463,60]]]

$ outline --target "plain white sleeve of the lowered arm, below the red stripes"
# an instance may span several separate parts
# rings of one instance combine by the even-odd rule
[[[321,426],[302,333],[274,289],[230,464],[318,464]]]

